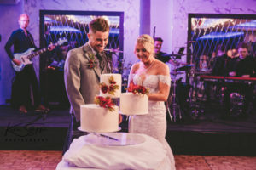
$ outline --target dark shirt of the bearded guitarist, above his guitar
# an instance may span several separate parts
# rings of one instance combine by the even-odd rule
[[[23,53],[28,48],[36,48],[33,37],[29,31],[27,32],[27,37],[25,35],[25,32],[22,29],[18,29],[16,31],[13,31],[11,36],[9,37],[9,40],[6,42],[4,48],[7,54],[9,55],[10,59],[14,59],[14,55],[11,51],[11,47],[14,45],[14,54],[15,53]]]

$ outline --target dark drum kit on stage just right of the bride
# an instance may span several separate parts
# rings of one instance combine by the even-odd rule
[[[177,59],[181,59],[183,54],[166,54],[171,57],[174,63],[178,63]],[[180,75],[186,75],[186,81],[181,82]],[[184,64],[181,66],[174,65],[174,69],[170,72],[172,77],[172,86],[167,101],[167,113],[172,122],[181,121],[184,116],[189,119],[196,119],[202,111],[201,101],[198,93],[198,75],[207,74],[207,72],[196,71],[194,64]]]

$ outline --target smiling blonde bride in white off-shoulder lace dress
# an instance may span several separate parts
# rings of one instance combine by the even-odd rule
[[[134,53],[140,62],[132,65],[129,75],[131,84],[143,85],[149,89],[148,115],[131,116],[129,133],[144,133],[158,139],[167,150],[175,169],[172,149],[166,141],[166,106],[171,78],[169,67],[154,58],[154,39],[146,34],[137,38]]]

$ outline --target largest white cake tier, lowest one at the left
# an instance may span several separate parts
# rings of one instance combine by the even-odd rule
[[[81,105],[81,130],[90,133],[109,133],[119,130],[119,107],[113,111],[100,105]]]

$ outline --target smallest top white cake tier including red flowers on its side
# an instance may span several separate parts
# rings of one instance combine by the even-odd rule
[[[119,98],[122,90],[122,76],[120,74],[102,74],[100,86],[100,96]]]

